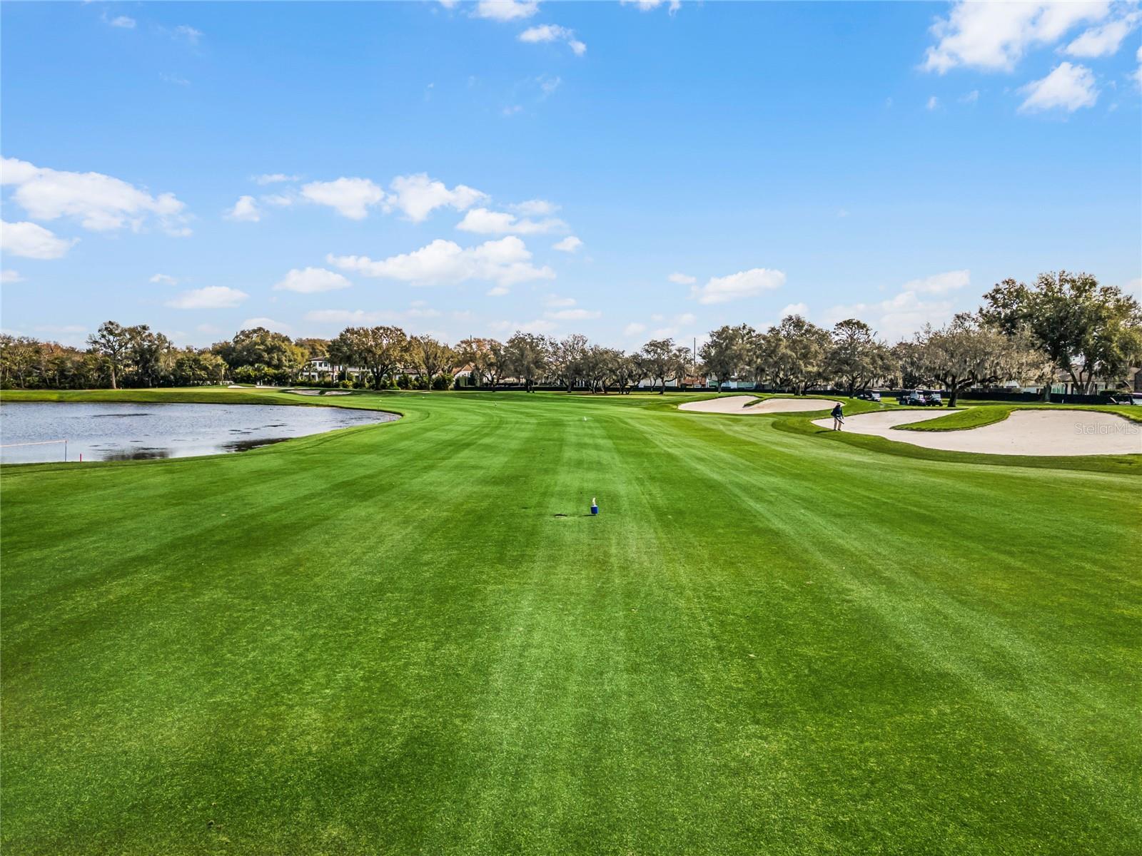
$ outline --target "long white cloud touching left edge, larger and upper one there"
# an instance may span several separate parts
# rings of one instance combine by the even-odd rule
[[[185,205],[172,193],[152,196],[99,172],[66,172],[5,158],[0,179],[15,185],[15,200],[35,220],[75,217],[83,228],[105,232],[129,225],[138,231],[153,215],[168,234],[186,235]]]

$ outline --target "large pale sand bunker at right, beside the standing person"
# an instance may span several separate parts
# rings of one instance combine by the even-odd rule
[[[980,454],[1142,454],[1142,423],[1085,410],[1015,410],[1002,422],[960,431],[900,431],[898,425],[947,415],[948,410],[888,410],[845,419],[845,430],[925,449]],[[813,425],[831,428],[831,419]]]

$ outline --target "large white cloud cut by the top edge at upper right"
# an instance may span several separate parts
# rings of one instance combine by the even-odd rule
[[[1083,22],[1101,21],[1110,3],[1095,2],[966,2],[956,3],[936,21],[922,67],[940,74],[956,66],[1011,71],[1036,45],[1051,45]]]

